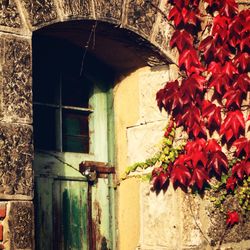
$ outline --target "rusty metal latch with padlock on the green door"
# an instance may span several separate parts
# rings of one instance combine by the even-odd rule
[[[97,178],[107,178],[115,174],[115,168],[105,162],[83,161],[79,164],[79,171],[86,176],[88,181],[94,182]]]

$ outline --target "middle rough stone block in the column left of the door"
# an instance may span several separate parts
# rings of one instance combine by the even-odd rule
[[[33,195],[32,129],[27,125],[0,123],[0,198]]]

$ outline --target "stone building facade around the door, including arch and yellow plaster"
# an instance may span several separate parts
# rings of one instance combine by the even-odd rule
[[[159,128],[165,125],[166,116],[157,110],[154,96],[177,74],[176,51],[169,48],[172,30],[163,15],[166,6],[166,0],[0,1],[0,249],[35,249],[34,35],[48,32],[68,38],[115,70],[114,143],[119,178],[129,163],[152,152],[161,136]],[[101,43],[96,41],[90,48],[88,38],[96,24],[101,27],[100,33],[96,31]],[[81,29],[85,29],[79,35],[82,40],[76,38]],[[111,48],[120,54],[105,54]],[[209,249],[196,222],[183,219],[192,216],[182,194],[176,196],[170,190],[156,197],[149,185],[132,179],[115,190],[112,249]],[[196,204],[194,216],[202,218],[197,220],[206,230],[206,205],[191,202]],[[242,230],[234,232],[225,249],[250,249],[249,225]]]

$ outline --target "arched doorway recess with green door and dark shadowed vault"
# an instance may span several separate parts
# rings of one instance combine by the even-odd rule
[[[152,55],[147,41],[108,23],[34,32],[37,249],[115,249],[112,86]],[[82,161],[94,164],[94,181],[79,172]]]

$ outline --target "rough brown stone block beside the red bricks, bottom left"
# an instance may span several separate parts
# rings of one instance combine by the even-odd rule
[[[34,249],[32,202],[11,202],[8,218],[10,249]]]

